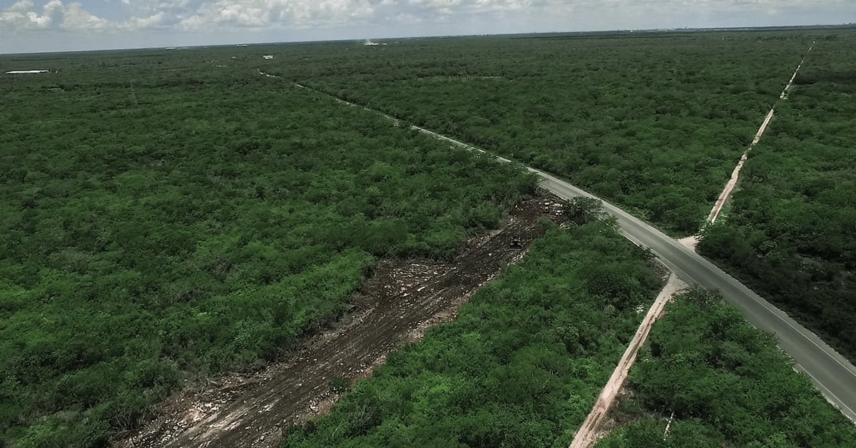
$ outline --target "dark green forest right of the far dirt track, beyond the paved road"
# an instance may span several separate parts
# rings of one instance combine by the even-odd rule
[[[820,39],[698,248],[856,361],[856,34]]]

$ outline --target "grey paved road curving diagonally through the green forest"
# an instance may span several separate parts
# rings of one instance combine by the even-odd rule
[[[292,84],[295,87],[297,86],[296,83]],[[330,93],[321,92],[310,87],[300,87],[345,102],[335,95],[330,95]],[[354,105],[352,103],[348,104]],[[394,117],[384,114],[381,111],[376,111],[363,105],[354,106],[362,107],[366,111],[373,111],[398,122]],[[491,157],[496,158],[496,160],[514,163],[508,160],[508,158],[497,157],[490,154],[490,152],[467,145],[458,140],[450,139],[430,130],[416,126],[411,128],[417,129],[421,133],[435,136],[452,145],[470,151],[489,154]],[[580,196],[600,199],[542,170],[536,170],[526,165],[522,166],[541,178],[541,186],[543,188],[562,199],[568,200]],[[747,288],[746,285],[741,284],[736,278],[731,277],[710,261],[705,260],[701,255],[696,254],[693,248],[685,247],[681,242],[676,241],[650,224],[646,224],[641,219],[634,217],[605,200],[603,200],[603,209],[618,220],[623,236],[639,246],[650,248],[651,252],[656,254],[663,261],[663,264],[668,266],[672,272],[675,272],[679,278],[688,284],[698,284],[709,290],[720,291],[726,301],[733,303],[740,309],[752,326],[764,332],[772,333],[776,337],[779,348],[794,359],[795,367],[800,372],[804,372],[811,377],[814,384],[823,392],[823,396],[826,397],[829,403],[832,403],[847,418],[856,422],[856,367],[853,367],[853,364],[847,361],[847,358],[829,347],[816,334],[791,319],[788,314],[785,314],[782,310],[764,300],[763,297],[758,296],[758,294]]]

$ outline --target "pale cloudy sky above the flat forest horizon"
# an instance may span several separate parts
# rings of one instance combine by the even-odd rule
[[[0,0],[0,53],[856,22],[856,0]]]

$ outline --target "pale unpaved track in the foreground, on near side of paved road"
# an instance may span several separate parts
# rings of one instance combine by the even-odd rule
[[[609,381],[603,387],[600,396],[597,397],[597,402],[594,403],[594,408],[591,409],[591,413],[586,417],[586,421],[583,421],[582,426],[580,426],[580,431],[574,436],[574,441],[571,442],[570,448],[587,448],[597,442],[597,430],[600,428],[603,419],[609,414],[609,408],[615,401],[615,396],[618,395],[618,391],[621,391],[621,386],[627,380],[630,367],[633,367],[633,362],[636,361],[639,349],[645,345],[648,334],[651,332],[651,326],[654,326],[654,322],[663,315],[666,303],[671,301],[675,294],[686,288],[687,284],[681,282],[674,273],[669,275],[669,281],[663,286],[663,290],[660,291],[657,300],[651,305],[648,314],[645,314],[645,319],[639,325],[636,336],[627,345],[627,350],[621,356],[621,361],[618,362],[618,366],[615,367],[615,371],[612,372],[612,376],[609,377]]]

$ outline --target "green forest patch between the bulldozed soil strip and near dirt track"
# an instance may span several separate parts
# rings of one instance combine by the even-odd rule
[[[458,319],[283,446],[567,446],[660,281],[608,221],[550,229]]]

